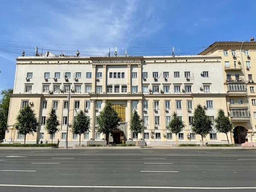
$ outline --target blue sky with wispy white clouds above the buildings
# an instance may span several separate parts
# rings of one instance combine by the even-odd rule
[[[255,0],[2,1],[0,90],[13,87],[22,50],[170,55],[175,47],[177,55],[195,55],[215,41],[256,38],[255,7]]]

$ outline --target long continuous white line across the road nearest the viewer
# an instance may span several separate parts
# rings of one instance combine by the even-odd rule
[[[172,187],[172,186],[55,186],[55,185],[7,185],[19,187],[49,187],[49,188],[121,188],[121,189],[256,189],[256,187]]]

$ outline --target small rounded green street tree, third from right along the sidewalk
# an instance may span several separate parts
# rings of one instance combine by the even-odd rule
[[[179,134],[185,128],[184,122],[177,116],[177,113],[173,112],[172,119],[169,121],[168,128],[171,133],[176,135],[176,146],[178,146],[177,134]]]

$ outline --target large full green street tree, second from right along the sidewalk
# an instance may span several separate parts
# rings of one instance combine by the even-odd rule
[[[198,104],[195,108],[191,125],[192,132],[201,135],[202,144],[204,146],[203,136],[209,134],[212,131],[212,121],[200,104]]]

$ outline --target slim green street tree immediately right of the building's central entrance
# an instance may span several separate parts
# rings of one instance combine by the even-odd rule
[[[131,116],[130,130],[136,134],[136,139],[137,139],[136,146],[139,146],[138,134],[143,133],[144,127],[143,127],[143,119],[140,118],[140,115],[136,110],[133,111]]]

